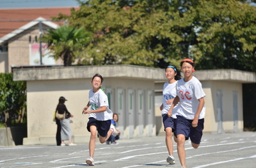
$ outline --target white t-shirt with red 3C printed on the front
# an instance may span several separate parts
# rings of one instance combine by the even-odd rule
[[[188,120],[195,118],[198,109],[198,99],[205,97],[204,90],[200,81],[193,76],[191,80],[185,82],[184,78],[177,82],[177,95],[180,98],[179,109],[176,115],[182,115]],[[205,105],[198,117],[202,119],[205,117]]]

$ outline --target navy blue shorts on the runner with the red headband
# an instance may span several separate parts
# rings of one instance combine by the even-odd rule
[[[177,115],[174,136],[177,137],[177,135],[182,134],[186,140],[190,138],[192,143],[200,144],[204,130],[204,118],[198,120],[197,127],[192,127],[192,122],[193,120]]]

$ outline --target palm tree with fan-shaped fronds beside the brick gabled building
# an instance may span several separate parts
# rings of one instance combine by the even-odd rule
[[[47,48],[54,59],[64,60],[64,66],[71,66],[77,57],[76,52],[83,50],[86,43],[90,41],[91,34],[85,32],[84,28],[77,29],[70,25],[64,25],[56,30],[48,29],[43,34],[41,41],[47,43]]]

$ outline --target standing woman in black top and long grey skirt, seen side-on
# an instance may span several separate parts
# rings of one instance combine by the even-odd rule
[[[71,116],[73,117],[74,115],[72,115],[71,113],[68,112],[68,109],[65,106],[65,101],[67,101],[65,99],[65,97],[60,97],[59,99],[59,104],[57,106],[57,110],[58,113],[60,114],[64,114],[66,113],[65,119],[64,120],[60,120],[60,125],[61,125],[61,146],[65,146],[66,144],[64,143],[65,140],[68,140],[68,146],[76,146],[76,144],[72,143],[72,130],[70,127],[70,123],[68,120],[68,117]]]

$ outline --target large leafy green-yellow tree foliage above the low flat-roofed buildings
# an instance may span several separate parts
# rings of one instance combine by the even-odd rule
[[[255,6],[238,0],[79,1],[68,19],[94,34],[83,64],[179,66],[256,71]]]

